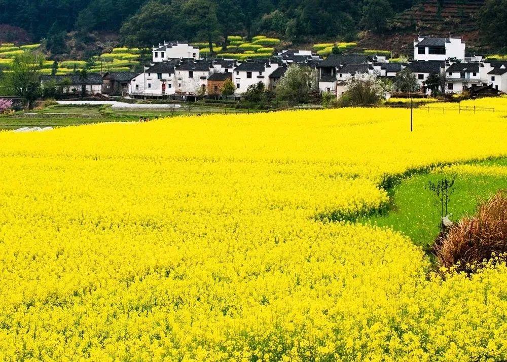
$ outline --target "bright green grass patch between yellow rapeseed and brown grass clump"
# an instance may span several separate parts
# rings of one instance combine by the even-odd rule
[[[507,167],[507,158],[471,164]],[[426,185],[429,180],[435,182],[445,176],[452,174],[419,174],[403,180],[391,190],[393,196],[387,211],[381,215],[365,217],[359,222],[391,227],[409,236],[415,244],[428,249],[439,233],[440,213]],[[501,189],[507,189],[506,176],[458,175],[449,207],[451,220],[456,222],[464,215],[473,214],[480,200],[490,198]]]

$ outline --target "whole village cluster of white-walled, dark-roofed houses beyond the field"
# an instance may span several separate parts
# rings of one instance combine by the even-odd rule
[[[192,100],[197,96],[221,96],[224,83],[230,80],[235,87],[234,96],[240,97],[249,86],[259,82],[267,89],[276,89],[287,67],[301,64],[316,68],[320,91],[337,97],[347,90],[351,79],[374,76],[394,80],[405,68],[416,75],[420,92],[425,95],[430,94],[425,82],[431,74],[442,76],[448,94],[464,90],[474,95],[507,93],[507,62],[466,55],[465,43],[450,36],[419,36],[414,40],[413,59],[406,63],[364,54],[331,54],[322,59],[309,50],[284,50],[266,59],[202,59],[198,48],[179,42],[159,44],[152,53],[151,65],[140,74],[110,72],[102,77],[90,75],[85,80],[70,77],[64,92]],[[44,76],[42,81],[55,78]]]

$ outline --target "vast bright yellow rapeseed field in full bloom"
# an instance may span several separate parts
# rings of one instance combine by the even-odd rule
[[[429,115],[428,115],[429,114]],[[347,108],[0,133],[0,360],[500,360],[507,268],[328,222],[507,155],[499,112]]]

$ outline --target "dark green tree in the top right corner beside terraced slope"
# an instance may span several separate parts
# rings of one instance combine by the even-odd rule
[[[507,47],[507,0],[487,0],[479,13],[479,25],[491,45]]]

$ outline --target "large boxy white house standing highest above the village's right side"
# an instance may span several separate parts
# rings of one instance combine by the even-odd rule
[[[461,38],[424,38],[414,40],[414,59],[443,61],[451,58],[465,59],[465,43]]]

